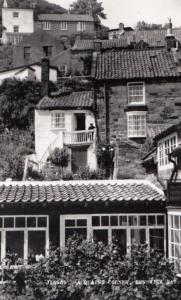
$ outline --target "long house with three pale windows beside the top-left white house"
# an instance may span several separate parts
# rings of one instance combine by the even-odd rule
[[[38,26],[58,39],[66,40],[73,34],[94,34],[94,19],[90,15],[40,14]]]

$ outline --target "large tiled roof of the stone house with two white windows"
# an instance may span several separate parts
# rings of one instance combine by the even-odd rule
[[[165,49],[116,50],[99,53],[93,65],[96,79],[178,77],[173,54]]]

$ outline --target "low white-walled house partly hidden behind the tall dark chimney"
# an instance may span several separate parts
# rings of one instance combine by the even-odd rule
[[[49,78],[50,81],[57,82],[57,72],[58,69],[56,67],[49,67]],[[42,74],[42,65],[37,62],[34,64],[23,65],[15,68],[11,68],[8,70],[0,71],[0,84],[2,84],[3,80],[8,78],[16,78],[20,80],[28,79],[28,80],[37,80],[41,81]]]

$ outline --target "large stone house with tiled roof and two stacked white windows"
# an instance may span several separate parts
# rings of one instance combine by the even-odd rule
[[[98,139],[115,144],[118,178],[145,175],[140,162],[155,128],[181,114],[180,51],[175,47],[169,28],[165,48],[94,53]]]

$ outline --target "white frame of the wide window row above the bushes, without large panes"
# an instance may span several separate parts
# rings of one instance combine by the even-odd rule
[[[108,217],[109,223],[106,226],[103,226],[101,223],[103,218]],[[114,221],[117,218],[117,225]],[[99,218],[99,224],[93,226],[92,220],[93,218]],[[127,221],[124,224],[121,224],[121,218],[126,218]],[[146,222],[141,225],[141,218],[146,218]],[[163,223],[159,220],[162,219]],[[108,244],[112,242],[113,230],[125,230],[126,232],[126,251],[130,253],[131,242],[131,234],[133,230],[145,230],[145,243],[148,244],[148,248],[150,249],[150,238],[151,238],[151,230],[163,230],[163,245],[164,245],[164,254],[166,254],[166,216],[165,214],[91,214],[91,215],[61,215],[60,216],[60,247],[64,247],[66,244],[66,220],[75,221],[76,220],[86,220],[87,223],[87,239],[93,240],[93,231],[94,230],[107,230],[108,234]],[[112,220],[112,221],[111,221]],[[131,220],[133,220],[132,225],[130,225]],[[136,221],[134,221],[136,220]],[[153,221],[155,220],[155,222]],[[105,220],[104,220],[105,221]],[[113,222],[113,223],[111,223]],[[162,223],[162,224],[161,224]],[[70,228],[70,227],[69,227]]]

